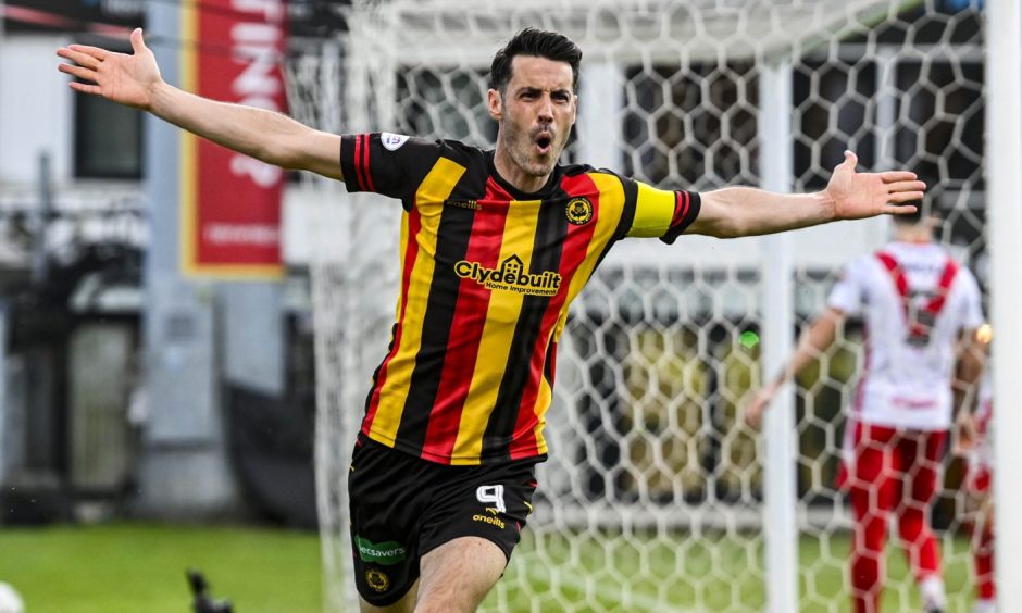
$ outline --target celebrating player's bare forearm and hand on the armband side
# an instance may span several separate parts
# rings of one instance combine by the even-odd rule
[[[688,234],[718,238],[755,236],[839,220],[914,213],[905,202],[920,200],[926,185],[915,173],[858,173],[858,159],[845,152],[826,189],[817,193],[772,193],[752,187],[725,187],[702,193],[699,216]]]

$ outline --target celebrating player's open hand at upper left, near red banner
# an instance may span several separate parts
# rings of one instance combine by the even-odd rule
[[[73,63],[60,64],[58,70],[88,82],[71,82],[75,91],[148,110],[152,91],[163,79],[141,28],[132,32],[132,49],[134,54],[128,55],[87,45],[61,47],[57,54]]]

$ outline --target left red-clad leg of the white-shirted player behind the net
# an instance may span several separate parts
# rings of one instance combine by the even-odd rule
[[[851,552],[851,601],[856,613],[877,613],[883,590],[884,545],[895,504],[892,478],[893,428],[856,424],[855,460],[848,479],[855,514]]]

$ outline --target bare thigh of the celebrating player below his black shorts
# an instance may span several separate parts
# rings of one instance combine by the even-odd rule
[[[422,556],[416,611],[475,611],[506,564],[504,552],[481,537],[460,537],[437,547]]]

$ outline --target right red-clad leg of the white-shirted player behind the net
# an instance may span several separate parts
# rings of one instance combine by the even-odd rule
[[[895,462],[903,475],[897,508],[898,537],[908,556],[926,611],[946,606],[940,575],[940,547],[930,527],[930,510],[940,477],[946,431],[907,433],[898,441]]]

